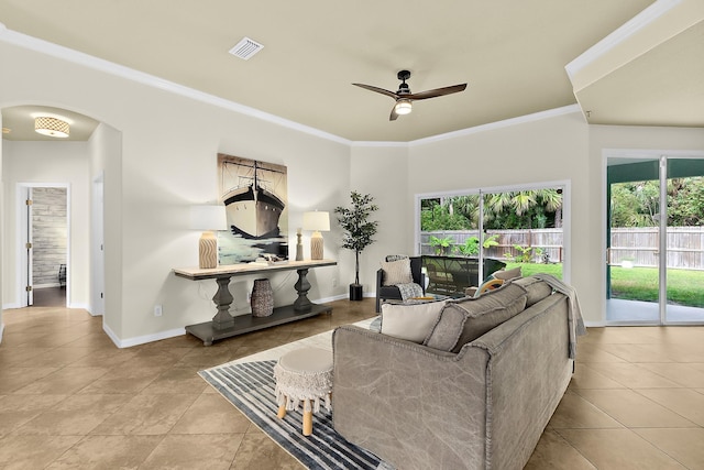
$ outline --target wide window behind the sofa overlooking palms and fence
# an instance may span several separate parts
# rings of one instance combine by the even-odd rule
[[[563,278],[564,193],[546,184],[417,196],[427,291],[463,296],[499,269]]]

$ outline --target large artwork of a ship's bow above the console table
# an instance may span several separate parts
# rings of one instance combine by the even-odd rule
[[[228,230],[218,232],[219,264],[288,260],[286,166],[218,154],[218,193]]]

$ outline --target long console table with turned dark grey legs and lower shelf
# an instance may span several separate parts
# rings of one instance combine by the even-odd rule
[[[308,299],[310,283],[306,276],[308,275],[308,270],[311,267],[333,266],[336,264],[338,263],[334,260],[306,260],[270,265],[254,263],[230,264],[205,270],[198,267],[175,267],[173,270],[174,274],[179,277],[185,277],[190,281],[215,278],[218,283],[218,291],[212,297],[212,302],[218,309],[217,314],[212,317],[211,321],[187,326],[186,331],[201,339],[204,346],[210,346],[212,341],[219,339],[231,338],[233,336],[332,311],[332,307],[324,304],[314,304]],[[233,317],[230,315],[230,304],[232,304],[234,299],[228,288],[231,277],[289,270],[296,270],[298,273],[298,282],[294,285],[298,293],[298,298],[296,298],[293,305],[274,308],[274,313],[267,317],[254,317],[252,315]]]

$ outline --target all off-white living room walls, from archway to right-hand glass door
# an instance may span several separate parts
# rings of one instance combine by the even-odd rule
[[[380,232],[361,260],[367,293],[385,254],[415,253],[415,194],[569,181],[571,282],[580,292],[586,319],[598,323],[603,319],[601,149],[704,149],[701,129],[590,128],[579,112],[547,113],[408,145],[349,144],[8,43],[0,43],[0,107],[42,103],[107,124],[89,143],[85,185],[105,172],[105,324],[122,346],[176,335],[215,314],[215,282],[177,278],[170,269],[197,263],[199,233],[187,229],[186,215],[191,204],[217,197],[218,153],[287,166],[292,244],[305,210],[332,212],[349,204],[351,189],[372,194],[380,206],[375,214]],[[53,74],[50,83],[42,80],[47,69]],[[7,174],[3,184],[7,198],[11,186]],[[3,247],[11,242],[11,233],[6,223]],[[344,296],[354,275],[354,256],[341,250],[337,223],[324,238],[324,255],[337,259],[339,266],[311,270],[312,299]],[[306,233],[304,247],[308,245]],[[8,278],[6,251],[3,289],[14,284]],[[74,281],[89,285],[87,276]],[[237,278],[231,284],[237,313],[249,310],[245,294],[252,281]],[[294,282],[292,272],[273,277],[277,305],[295,298]],[[7,294],[2,295],[4,299]],[[81,295],[88,298],[87,293]],[[152,314],[156,304],[164,306],[162,317]]]

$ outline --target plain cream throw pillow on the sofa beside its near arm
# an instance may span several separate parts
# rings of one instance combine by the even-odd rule
[[[421,343],[430,334],[447,300],[382,305],[382,334]]]

